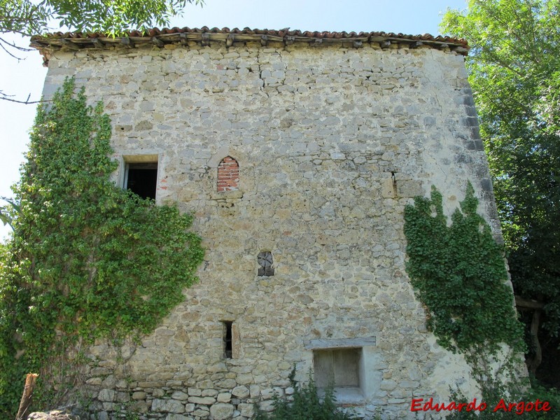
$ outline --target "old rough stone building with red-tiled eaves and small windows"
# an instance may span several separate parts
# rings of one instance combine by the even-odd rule
[[[288,374],[414,418],[475,393],[425,328],[405,272],[405,204],[468,181],[500,236],[463,41],[385,33],[153,29],[34,38],[50,97],[76,76],[113,122],[115,181],[196,214],[200,282],[134,349],[91,349],[99,419],[247,419]],[[465,379],[466,378],[466,379]]]

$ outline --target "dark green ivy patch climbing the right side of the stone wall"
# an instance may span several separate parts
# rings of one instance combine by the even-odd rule
[[[477,207],[470,183],[451,225],[434,187],[430,199],[416,197],[407,205],[407,273],[428,309],[428,328],[446,349],[496,354],[505,343],[523,350],[503,250]]]

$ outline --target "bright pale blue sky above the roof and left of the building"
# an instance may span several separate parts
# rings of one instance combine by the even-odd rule
[[[465,0],[206,0],[204,7],[190,5],[171,27],[251,27],[310,31],[386,31],[403,34],[439,34],[441,14],[447,8],[465,8]],[[56,28],[55,28],[56,30]],[[27,46],[29,39],[3,36]],[[0,51],[0,90],[14,99],[41,97],[47,69],[36,51],[19,52],[19,62]],[[10,196],[10,185],[19,179],[27,150],[34,105],[0,101],[0,196]],[[8,229],[0,227],[0,237]]]

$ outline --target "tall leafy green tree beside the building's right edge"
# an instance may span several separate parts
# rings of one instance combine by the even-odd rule
[[[471,46],[469,81],[515,293],[544,306],[542,328],[553,341],[560,332],[559,28],[559,0],[469,0],[442,22]],[[535,326],[538,316],[538,344]]]

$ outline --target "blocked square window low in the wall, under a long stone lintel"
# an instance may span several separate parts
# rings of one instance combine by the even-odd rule
[[[317,388],[359,388],[362,349],[325,349],[313,351]]]

